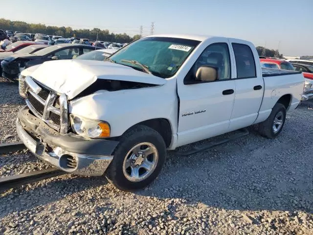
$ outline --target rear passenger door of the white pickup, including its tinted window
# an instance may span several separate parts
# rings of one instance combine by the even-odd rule
[[[264,82],[258,53],[253,44],[229,39],[235,61],[235,102],[229,131],[253,124],[261,106]]]

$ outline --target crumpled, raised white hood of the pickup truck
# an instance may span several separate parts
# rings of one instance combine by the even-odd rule
[[[31,74],[50,89],[67,94],[68,99],[80,94],[97,79],[163,85],[166,80],[131,67],[91,60],[48,61]],[[101,89],[99,89],[101,90]]]

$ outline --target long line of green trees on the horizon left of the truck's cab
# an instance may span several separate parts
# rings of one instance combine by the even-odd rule
[[[45,24],[28,24],[23,21],[10,21],[0,18],[0,29],[20,31],[22,33],[43,33],[47,35],[62,36],[65,38],[77,37],[88,38],[91,40],[98,39],[99,41],[129,43],[138,38],[140,35],[131,37],[126,33],[114,34],[108,29],[101,30],[100,28],[93,29],[72,29],[71,27],[46,26]]]

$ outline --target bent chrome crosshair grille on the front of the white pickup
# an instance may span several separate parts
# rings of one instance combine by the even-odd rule
[[[67,98],[58,95],[33,80],[25,77],[26,104],[35,116],[45,121],[61,134],[67,133]]]

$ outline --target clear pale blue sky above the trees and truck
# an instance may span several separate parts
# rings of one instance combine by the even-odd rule
[[[313,55],[313,0],[1,0],[0,18],[27,23],[98,27],[130,36],[201,34],[239,38]],[[278,47],[279,46],[279,47]]]

